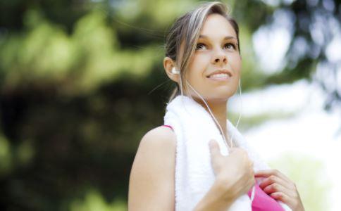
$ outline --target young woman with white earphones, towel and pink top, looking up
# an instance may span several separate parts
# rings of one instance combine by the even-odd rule
[[[242,70],[238,25],[228,8],[211,2],[178,18],[163,65],[177,88],[167,125],[140,142],[128,210],[304,210],[294,183],[261,163],[227,121]]]

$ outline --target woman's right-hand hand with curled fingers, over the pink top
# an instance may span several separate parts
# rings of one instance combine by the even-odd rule
[[[261,170],[255,177],[266,177],[259,187],[265,193],[288,205],[293,211],[304,211],[296,185],[278,170]]]

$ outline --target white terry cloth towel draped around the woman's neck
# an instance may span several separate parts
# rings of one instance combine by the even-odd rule
[[[228,148],[211,115],[190,97],[177,96],[167,104],[164,124],[173,127],[177,139],[175,210],[193,210],[215,181],[209,141],[215,139],[218,142],[222,155],[228,155]],[[233,136],[233,146],[247,151],[249,158],[254,162],[255,172],[270,169],[229,120],[227,120],[227,130],[228,134]],[[262,180],[263,178],[257,178],[257,184]],[[291,211],[290,207],[278,202],[284,210]],[[252,199],[245,193],[235,200],[229,210],[251,211]]]

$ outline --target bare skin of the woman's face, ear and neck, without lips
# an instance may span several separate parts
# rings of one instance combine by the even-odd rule
[[[223,27],[221,27],[223,25]],[[221,125],[224,134],[226,133],[227,110],[226,104],[228,98],[237,91],[242,68],[242,58],[237,49],[237,34],[228,20],[218,14],[211,14],[203,25],[202,32],[197,43],[197,51],[190,60],[189,68],[185,77],[187,82],[202,95],[206,100],[213,115]],[[224,39],[225,37],[233,37]],[[163,60],[168,77],[175,82],[180,82],[179,75],[173,75],[171,69],[177,68],[175,62],[166,57]],[[228,69],[233,77],[229,82],[217,82],[208,79],[206,76],[216,70]],[[192,96],[197,103],[207,110],[199,96],[187,88],[187,96]]]

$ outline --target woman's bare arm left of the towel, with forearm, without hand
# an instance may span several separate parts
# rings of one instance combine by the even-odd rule
[[[175,210],[175,151],[171,129],[157,127],[144,135],[130,173],[128,210]],[[194,210],[227,210],[234,199],[225,187],[216,179]]]

